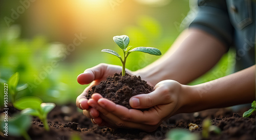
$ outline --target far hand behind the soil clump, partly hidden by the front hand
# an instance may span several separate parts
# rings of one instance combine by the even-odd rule
[[[76,99],[76,106],[80,109],[83,109],[83,114],[86,115],[88,118],[92,119],[92,122],[95,120],[101,120],[99,117],[99,112],[92,108],[88,104],[88,100],[86,98],[86,95],[89,90],[92,89],[93,86],[98,85],[101,80],[105,80],[106,77],[109,75],[114,75],[115,73],[120,73],[122,71],[122,68],[120,66],[115,65],[108,65],[108,64],[99,64],[95,67],[92,67],[90,69],[86,69],[82,74],[77,76],[77,81],[81,84],[89,84],[91,83],[84,91],[77,97]],[[134,75],[130,70],[126,69],[126,72],[130,75]]]

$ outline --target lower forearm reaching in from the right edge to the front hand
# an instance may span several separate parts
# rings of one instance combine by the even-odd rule
[[[185,104],[180,113],[250,103],[255,100],[255,65],[185,89]]]

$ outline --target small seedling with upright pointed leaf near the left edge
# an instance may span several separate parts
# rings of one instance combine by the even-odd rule
[[[14,73],[8,80],[8,86],[9,86],[9,90],[10,90],[9,93],[11,94],[12,103],[15,102],[17,93],[28,87],[27,84],[17,87],[18,81],[19,81],[19,73],[18,72]]]

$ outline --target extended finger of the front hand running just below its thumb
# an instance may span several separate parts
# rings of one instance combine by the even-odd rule
[[[135,123],[142,123],[146,125],[156,125],[159,123],[159,115],[156,109],[150,108],[149,110],[140,111],[137,109],[128,109],[122,105],[115,104],[114,102],[100,98],[98,100],[98,104],[100,105],[101,110],[100,113],[104,116],[108,116],[108,114],[113,114],[120,118],[123,121],[130,121]]]

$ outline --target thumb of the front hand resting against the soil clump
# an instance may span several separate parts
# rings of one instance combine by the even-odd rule
[[[148,94],[139,94],[130,98],[133,108],[150,108],[159,104],[169,103],[171,95],[167,86],[158,86],[155,91]]]

